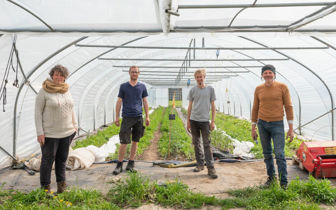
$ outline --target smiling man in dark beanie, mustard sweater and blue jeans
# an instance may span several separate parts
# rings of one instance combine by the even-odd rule
[[[274,145],[275,159],[277,161],[280,186],[286,188],[287,163],[285,159],[285,128],[284,128],[284,107],[288,121],[289,130],[287,137],[289,142],[293,140],[294,113],[291,96],[286,84],[275,81],[276,71],[272,65],[265,65],[261,69],[261,81],[265,83],[258,85],[254,91],[252,108],[252,132],[251,136],[257,139],[256,125],[258,125],[262,154],[267,169],[267,181],[260,187],[268,187],[276,178],[274,161],[272,156],[272,142]]]

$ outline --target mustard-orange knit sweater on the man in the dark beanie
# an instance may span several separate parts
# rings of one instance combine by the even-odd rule
[[[287,120],[294,120],[291,95],[286,84],[277,82],[270,86],[266,83],[258,85],[254,91],[252,122],[258,118],[265,121],[284,119],[284,107]]]

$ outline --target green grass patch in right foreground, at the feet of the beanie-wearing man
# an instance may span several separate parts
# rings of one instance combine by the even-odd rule
[[[328,179],[292,180],[286,191],[278,183],[260,190],[258,187],[245,187],[227,190],[234,198],[222,200],[227,208],[246,209],[319,209],[320,203],[333,204],[336,201],[336,189]]]

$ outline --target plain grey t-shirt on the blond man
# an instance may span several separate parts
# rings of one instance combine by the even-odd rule
[[[216,99],[215,90],[211,85],[205,88],[192,87],[187,97],[187,100],[193,101],[190,119],[199,122],[209,121],[211,101]]]

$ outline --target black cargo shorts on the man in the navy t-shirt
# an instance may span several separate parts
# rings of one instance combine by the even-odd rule
[[[131,143],[132,141],[139,142],[142,137],[143,118],[139,117],[123,117],[120,125],[119,139],[121,144]]]

